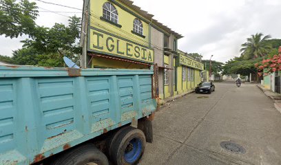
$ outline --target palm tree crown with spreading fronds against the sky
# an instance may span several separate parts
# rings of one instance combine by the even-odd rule
[[[271,45],[267,43],[267,40],[271,38],[270,35],[264,36],[262,33],[257,33],[251,35],[251,38],[247,39],[247,43],[243,43],[240,52],[244,60],[254,59],[261,56],[265,56],[269,50],[271,50]]]

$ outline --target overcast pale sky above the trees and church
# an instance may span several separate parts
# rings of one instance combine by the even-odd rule
[[[44,0],[81,8],[83,0]],[[39,11],[79,12],[36,1]],[[203,58],[225,62],[240,56],[240,45],[251,34],[262,32],[281,39],[281,0],[134,0],[134,4],[154,14],[154,19],[185,36],[178,41],[184,52],[198,52]],[[67,23],[67,17],[52,12],[40,12],[39,25],[52,27]],[[80,13],[61,13],[72,16]],[[0,54],[11,56],[21,47],[21,39],[0,36]]]

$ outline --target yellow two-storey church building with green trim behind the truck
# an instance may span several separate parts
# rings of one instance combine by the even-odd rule
[[[85,1],[87,67],[149,69],[157,66],[158,103],[196,87],[202,63],[178,50],[183,38],[129,0]],[[83,31],[82,30],[82,31]],[[155,68],[155,67],[154,67]]]

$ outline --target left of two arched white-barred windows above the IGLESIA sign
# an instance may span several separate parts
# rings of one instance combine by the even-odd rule
[[[103,18],[118,23],[118,12],[112,3],[105,2],[103,4]]]

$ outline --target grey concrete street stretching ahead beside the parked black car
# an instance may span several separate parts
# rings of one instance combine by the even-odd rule
[[[281,113],[256,85],[216,83],[160,109],[140,164],[281,164]],[[209,98],[198,98],[208,96]],[[240,144],[231,153],[220,142]]]

